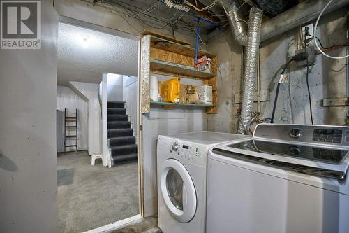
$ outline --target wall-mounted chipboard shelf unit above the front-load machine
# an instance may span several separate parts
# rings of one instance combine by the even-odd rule
[[[150,105],[155,104],[150,102],[149,97],[151,73],[203,80],[204,85],[212,86],[212,106],[206,106],[206,112],[218,113],[217,57],[205,50],[199,50],[198,57],[202,55],[211,58],[211,73],[195,70],[195,48],[165,38],[144,36],[141,41],[142,113],[149,113]]]

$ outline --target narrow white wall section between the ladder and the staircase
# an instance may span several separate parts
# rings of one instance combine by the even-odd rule
[[[102,153],[101,135],[102,118],[101,106],[99,103],[98,84],[69,82],[69,87],[88,101],[88,150],[89,155]]]

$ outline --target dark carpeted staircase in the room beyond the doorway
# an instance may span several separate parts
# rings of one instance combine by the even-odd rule
[[[112,153],[112,165],[137,161],[137,145],[131,122],[126,115],[125,103],[107,103],[107,131]]]

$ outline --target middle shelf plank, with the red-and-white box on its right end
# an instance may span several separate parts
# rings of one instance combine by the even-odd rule
[[[163,62],[156,59],[150,60],[150,69],[165,71],[168,73],[177,73],[186,77],[202,79],[213,78],[214,76],[216,76],[216,73],[197,71],[194,69],[194,67],[192,69],[191,66],[183,66],[179,64],[174,64],[172,62]]]

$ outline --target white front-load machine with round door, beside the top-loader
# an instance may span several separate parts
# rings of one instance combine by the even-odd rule
[[[243,138],[217,132],[158,136],[158,225],[164,233],[205,232],[207,153]]]

